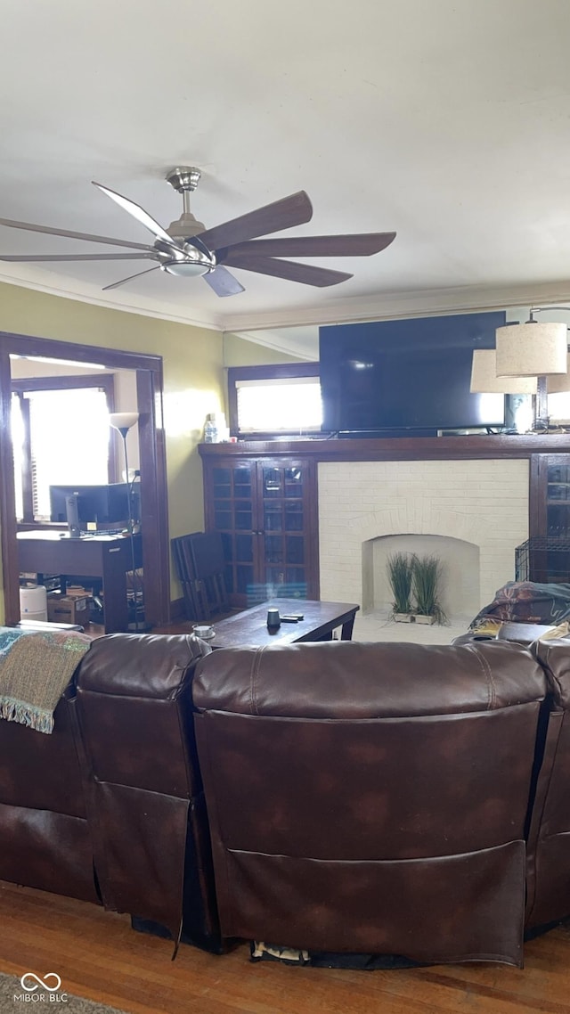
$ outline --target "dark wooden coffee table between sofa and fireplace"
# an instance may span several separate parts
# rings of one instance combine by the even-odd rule
[[[296,624],[282,623],[276,631],[267,627],[267,610],[279,609],[287,615],[302,612]],[[208,643],[212,648],[264,647],[269,644],[294,644],[299,641],[330,640],[333,631],[341,627],[341,640],[352,639],[354,618],[359,605],[353,602],[317,602],[306,598],[277,598],[254,605],[243,612],[214,623],[215,637]]]

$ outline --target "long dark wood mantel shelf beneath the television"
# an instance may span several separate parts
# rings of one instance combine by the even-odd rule
[[[317,461],[453,461],[475,458],[529,458],[570,453],[570,433],[506,436],[485,434],[390,439],[239,440],[200,444],[205,457],[313,457]]]

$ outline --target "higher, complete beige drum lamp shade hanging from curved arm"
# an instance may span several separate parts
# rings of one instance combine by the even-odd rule
[[[567,372],[565,323],[507,324],[495,332],[497,376],[545,376]]]

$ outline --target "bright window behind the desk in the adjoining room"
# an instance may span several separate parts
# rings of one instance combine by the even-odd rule
[[[114,478],[109,412],[113,377],[58,377],[12,383],[16,518],[50,520],[50,486]]]

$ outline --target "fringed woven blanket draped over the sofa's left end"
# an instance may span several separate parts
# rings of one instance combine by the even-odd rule
[[[58,701],[90,644],[75,631],[2,631],[0,718],[52,732]]]

